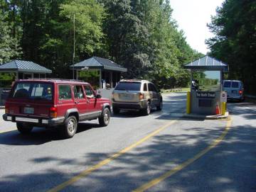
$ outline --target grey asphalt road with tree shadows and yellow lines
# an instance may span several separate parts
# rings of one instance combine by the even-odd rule
[[[186,94],[149,116],[20,135],[0,120],[0,191],[256,191],[256,106],[228,103],[228,120],[182,118]],[[3,113],[3,111],[1,111]]]

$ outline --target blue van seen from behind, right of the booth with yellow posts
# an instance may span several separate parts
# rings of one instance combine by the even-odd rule
[[[227,92],[228,99],[238,99],[240,101],[245,99],[242,81],[224,80],[223,91]]]

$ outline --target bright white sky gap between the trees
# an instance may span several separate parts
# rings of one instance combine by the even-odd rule
[[[209,51],[205,40],[212,37],[207,23],[215,16],[215,9],[224,0],[170,0],[174,9],[172,17],[177,21],[178,29],[183,30],[188,44],[206,55]]]

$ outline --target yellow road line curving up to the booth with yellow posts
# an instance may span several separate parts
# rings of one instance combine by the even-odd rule
[[[209,152],[210,149],[213,149],[213,147],[216,147],[216,145],[218,145],[224,139],[225,135],[227,135],[227,133],[228,133],[228,130],[230,130],[230,126],[231,126],[231,120],[229,119],[227,122],[227,125],[225,127],[225,130],[220,135],[220,137],[218,137],[216,140],[214,140],[212,142],[212,144],[210,144],[208,147],[206,147],[206,149],[203,149],[201,152],[196,154],[191,159],[188,159],[186,162],[183,162],[182,164],[175,166],[174,169],[167,171],[165,174],[159,176],[158,178],[153,179],[153,180],[149,181],[148,183],[145,183],[144,185],[140,186],[139,188],[136,188],[134,190],[134,192],[146,191],[146,189],[151,188],[152,186],[155,186],[157,183],[164,181],[164,179],[167,179],[168,177],[172,176],[173,174],[176,174],[176,172],[181,171],[181,169],[184,169],[189,164],[192,164],[193,162],[195,162],[197,159],[199,159],[204,154]]]

